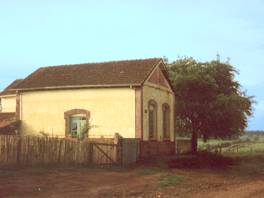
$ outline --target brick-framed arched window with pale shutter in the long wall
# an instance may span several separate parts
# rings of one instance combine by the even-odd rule
[[[89,127],[90,112],[85,109],[72,109],[64,113],[65,134],[82,138]]]

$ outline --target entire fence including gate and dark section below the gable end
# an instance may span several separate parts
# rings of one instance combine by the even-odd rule
[[[129,165],[139,158],[175,154],[175,142],[133,138],[83,141],[56,137],[0,135],[0,165]]]

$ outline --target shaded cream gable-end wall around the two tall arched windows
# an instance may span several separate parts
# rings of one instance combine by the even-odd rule
[[[170,140],[174,141],[174,119],[173,119],[173,107],[174,107],[174,94],[173,92],[163,86],[145,83],[143,86],[143,140],[149,140],[149,127],[148,127],[148,102],[149,100],[155,100],[157,102],[157,139],[163,141],[163,112],[162,104],[168,103],[170,106]]]

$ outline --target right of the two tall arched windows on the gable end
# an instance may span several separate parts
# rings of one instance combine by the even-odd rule
[[[170,106],[165,103],[162,105],[162,114],[163,114],[163,139],[169,140],[170,139]]]

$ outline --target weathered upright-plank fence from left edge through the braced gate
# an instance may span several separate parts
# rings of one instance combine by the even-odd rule
[[[0,135],[1,165],[119,164],[121,146],[113,140]]]

